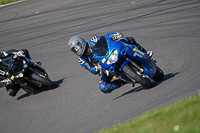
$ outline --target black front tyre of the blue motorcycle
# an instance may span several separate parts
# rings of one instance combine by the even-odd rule
[[[152,88],[156,85],[156,82],[151,78],[147,76],[142,77],[141,75],[137,74],[137,72],[133,69],[133,66],[131,64],[126,64],[122,68],[122,71],[127,77],[134,79],[136,83],[140,83],[145,87]]]

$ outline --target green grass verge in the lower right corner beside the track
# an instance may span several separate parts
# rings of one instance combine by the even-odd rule
[[[200,133],[200,94],[97,133]]]

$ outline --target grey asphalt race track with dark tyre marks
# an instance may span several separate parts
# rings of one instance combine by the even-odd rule
[[[1,51],[28,49],[60,87],[0,93],[1,133],[93,133],[197,94],[199,0],[28,0],[0,8]],[[111,94],[67,47],[73,35],[122,32],[154,52],[165,72],[152,89],[127,84]]]

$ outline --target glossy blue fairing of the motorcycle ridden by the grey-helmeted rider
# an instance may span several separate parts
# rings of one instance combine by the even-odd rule
[[[149,57],[145,53],[137,49],[136,46],[125,44],[122,41],[112,41],[108,34],[102,37],[102,40],[101,40],[102,41],[101,44],[96,44],[96,45],[99,45],[99,47],[95,45],[96,49],[95,48],[94,49],[96,51],[95,50],[94,51],[96,52],[96,54],[94,54],[93,58],[97,59],[100,65],[102,66],[102,68],[105,70],[109,70],[112,75],[115,75],[116,77],[121,77],[125,79],[126,81],[130,81],[128,77],[123,75],[121,69],[123,68],[125,64],[130,63],[131,61],[140,62],[143,66],[144,73],[148,75],[149,77],[152,78],[155,75],[156,73],[155,65],[151,62]],[[100,47],[101,48],[104,47],[103,53],[102,51],[101,52],[98,51],[98,50],[101,50]],[[118,58],[116,62],[108,64],[107,63],[108,58],[111,56],[114,50],[117,51]],[[120,61],[121,64],[120,66],[118,66],[119,68],[117,68],[117,71],[116,71],[116,64],[122,58],[122,56],[127,57],[127,59],[123,62]]]

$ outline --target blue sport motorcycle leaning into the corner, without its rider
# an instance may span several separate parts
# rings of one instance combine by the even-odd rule
[[[163,79],[163,71],[136,46],[112,41],[109,35],[101,36],[92,48],[104,72],[128,83],[139,83],[151,88]]]

